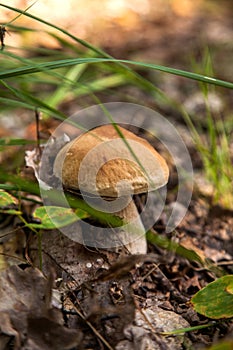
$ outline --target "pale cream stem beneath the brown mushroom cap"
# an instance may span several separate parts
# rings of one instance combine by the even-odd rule
[[[115,213],[115,215],[119,216],[125,225],[117,231],[116,239],[120,246],[114,250],[126,250],[131,254],[146,254],[147,242],[145,228],[133,199],[130,200],[124,209]]]

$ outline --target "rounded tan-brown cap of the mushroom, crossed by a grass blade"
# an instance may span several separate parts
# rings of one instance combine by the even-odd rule
[[[141,164],[135,160],[114,126],[103,125],[77,137],[58,153],[54,174],[65,187],[115,198],[119,186],[123,193],[126,186],[126,190],[137,194],[167,183],[168,166],[158,152],[146,140],[120,126],[118,128]],[[78,177],[83,160],[83,175]],[[93,173],[96,174],[95,181]]]

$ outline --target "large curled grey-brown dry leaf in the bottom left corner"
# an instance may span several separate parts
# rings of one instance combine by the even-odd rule
[[[38,269],[12,266],[0,274],[1,349],[58,350],[79,344],[80,332],[64,327],[61,312],[50,305],[51,285]]]

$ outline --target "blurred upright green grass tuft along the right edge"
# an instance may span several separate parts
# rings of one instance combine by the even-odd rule
[[[206,48],[200,64],[192,61],[193,68],[206,75],[214,75],[213,64],[209,49]],[[199,130],[192,123],[192,135],[196,143],[197,150],[201,156],[204,176],[213,186],[213,204],[220,204],[226,208],[233,209],[233,164],[230,152],[231,133],[227,132],[222,116],[218,113],[213,115],[210,106],[210,93],[217,95],[215,85],[208,85],[199,82],[205,103],[205,123],[206,130]],[[189,122],[190,124],[190,122]],[[203,128],[202,128],[203,129]],[[200,132],[202,136],[200,136]]]

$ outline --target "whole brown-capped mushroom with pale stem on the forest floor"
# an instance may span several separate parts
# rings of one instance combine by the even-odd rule
[[[169,170],[146,140],[123,127],[103,125],[66,144],[53,169],[65,188],[87,193],[86,200],[97,198],[94,203],[101,203],[99,210],[123,220],[121,228],[112,228],[110,248],[124,247],[131,254],[147,252],[145,229],[132,195],[164,186]]]

